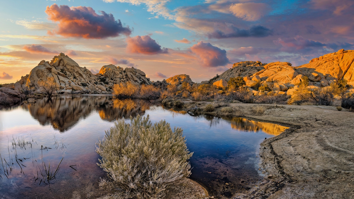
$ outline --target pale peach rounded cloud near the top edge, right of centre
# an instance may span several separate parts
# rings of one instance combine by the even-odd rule
[[[270,10],[267,4],[246,2],[241,4],[232,4],[229,10],[235,17],[242,18],[245,21],[257,21]]]

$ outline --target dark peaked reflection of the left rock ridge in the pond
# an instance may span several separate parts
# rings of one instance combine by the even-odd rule
[[[34,104],[23,104],[41,125],[51,124],[64,132],[92,111],[98,111],[102,120],[113,121],[144,113],[152,105],[149,101],[116,99],[113,96],[73,95],[39,99]]]

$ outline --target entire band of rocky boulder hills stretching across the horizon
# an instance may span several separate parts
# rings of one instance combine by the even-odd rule
[[[289,62],[261,63],[260,61],[244,61],[235,63],[221,75],[202,81],[200,84],[212,83],[218,87],[226,87],[230,78],[242,77],[247,86],[268,84],[272,91],[279,94],[292,95],[305,76],[309,80],[310,89],[329,86],[332,82],[345,79],[354,86],[354,50],[341,49],[337,52],[312,59],[308,64],[293,67]],[[80,67],[64,53],[54,56],[49,61],[42,60],[31,72],[22,76],[16,83],[5,85],[1,93],[20,101],[27,90],[44,92],[43,83],[51,80],[59,94],[110,94],[114,84],[131,82],[135,85],[147,84],[165,88],[168,84],[181,87],[183,82],[194,84],[189,75],[175,75],[164,81],[151,82],[145,73],[136,68],[121,68],[113,64],[105,65],[99,73],[92,74],[86,67]],[[263,95],[250,89],[253,95]],[[266,91],[265,91],[266,92]],[[1,94],[0,93],[0,94]]]

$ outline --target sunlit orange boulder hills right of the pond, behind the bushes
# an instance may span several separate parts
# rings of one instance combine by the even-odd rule
[[[268,84],[273,91],[287,92],[307,76],[312,88],[326,87],[332,82],[345,79],[354,86],[354,50],[341,49],[337,52],[312,59],[308,64],[292,67],[289,62],[261,63],[245,61],[235,63],[232,68],[209,80],[214,85],[227,86],[230,78],[242,77],[247,86],[261,82]]]

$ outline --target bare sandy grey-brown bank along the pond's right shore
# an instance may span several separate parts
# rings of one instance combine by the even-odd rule
[[[331,106],[223,106],[232,107],[234,116],[290,127],[261,143],[259,173],[264,180],[233,199],[354,198],[354,113]],[[257,106],[265,108],[263,114],[255,115]],[[220,109],[210,114],[222,115]]]

